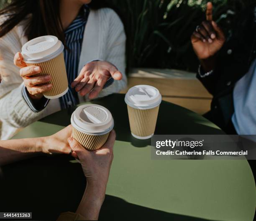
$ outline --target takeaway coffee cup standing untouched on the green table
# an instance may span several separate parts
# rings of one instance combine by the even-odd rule
[[[159,90],[150,85],[137,85],[128,90],[125,103],[133,137],[144,140],[154,135],[161,100]]]

